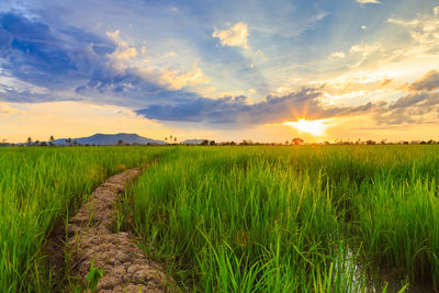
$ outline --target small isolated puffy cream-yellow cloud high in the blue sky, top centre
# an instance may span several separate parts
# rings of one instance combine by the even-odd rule
[[[247,44],[248,27],[244,22],[238,22],[223,31],[215,29],[212,33],[212,37],[219,38],[219,42],[223,46],[235,46],[245,49],[250,48]]]

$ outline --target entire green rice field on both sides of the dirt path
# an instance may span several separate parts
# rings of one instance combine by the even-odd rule
[[[50,229],[158,155],[121,211],[182,291],[439,285],[439,146],[384,145],[0,149],[0,288],[47,291]]]

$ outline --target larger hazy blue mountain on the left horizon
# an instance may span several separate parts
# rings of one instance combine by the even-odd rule
[[[67,138],[60,138],[54,140],[55,145],[67,145]],[[124,144],[157,144],[157,145],[166,145],[167,143],[162,140],[155,140],[151,138],[139,136],[135,133],[117,133],[117,134],[101,134],[97,133],[89,137],[79,137],[79,138],[71,138],[71,142],[78,142],[81,145],[117,145],[119,140],[122,140]]]

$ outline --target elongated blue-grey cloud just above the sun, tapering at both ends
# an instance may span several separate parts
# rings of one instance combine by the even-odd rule
[[[216,100],[199,98],[189,103],[153,104],[138,110],[137,113],[161,121],[248,125],[282,123],[302,116],[315,120],[361,114],[382,106],[372,103],[351,108],[324,106],[319,101],[320,97],[318,90],[304,88],[282,97],[269,95],[264,101],[254,104],[249,104],[246,97]]]

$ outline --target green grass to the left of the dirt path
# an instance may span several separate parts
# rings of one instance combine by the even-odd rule
[[[48,292],[41,253],[53,227],[109,176],[151,160],[165,148],[0,149],[0,292]]]

